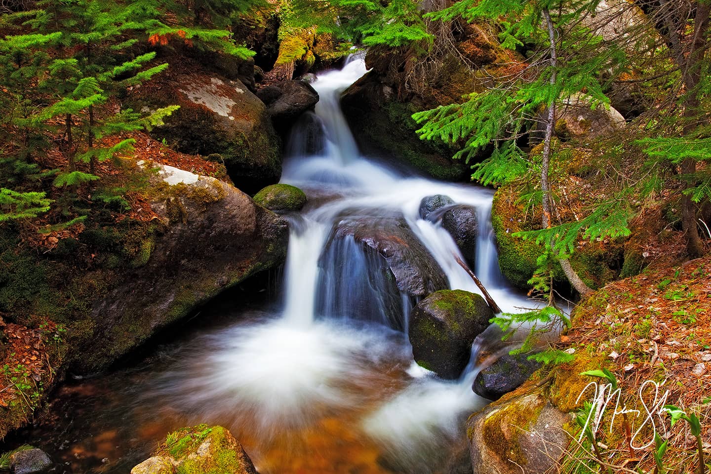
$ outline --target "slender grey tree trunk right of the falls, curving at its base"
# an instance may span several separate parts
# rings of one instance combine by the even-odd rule
[[[550,40],[550,85],[555,86],[555,81],[557,80],[557,65],[558,57],[557,51],[555,49],[555,28],[553,26],[553,21],[550,18],[550,11],[548,9],[543,9],[543,16],[545,18],[545,23],[548,28],[548,38]],[[543,204],[543,217],[542,224],[544,229],[550,229],[551,227],[551,216],[553,203],[550,197],[550,183],[548,181],[548,170],[550,168],[550,146],[553,140],[553,129],[555,127],[555,99],[552,99],[550,104],[548,104],[548,119],[545,124],[545,138],[543,139],[543,158],[541,163],[541,173],[540,173],[540,188],[543,193],[542,204]],[[553,247],[551,242],[551,247]],[[575,272],[573,267],[570,265],[568,259],[558,259],[565,276],[567,276],[568,281],[573,286],[573,288],[581,295],[586,295],[587,293],[592,293],[592,289],[587,286],[582,279]]]

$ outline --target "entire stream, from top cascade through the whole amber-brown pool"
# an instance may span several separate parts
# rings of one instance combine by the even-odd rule
[[[448,195],[477,210],[475,272],[499,306],[520,311],[534,303],[498,270],[491,190],[360,156],[339,96],[364,73],[353,57],[319,75],[315,113],[294,126],[282,182],[304,189],[309,205],[288,217],[279,308],[213,309],[223,313],[218,327],[174,343],[149,365],[65,387],[78,410],[65,414],[75,426],[54,438],[65,438],[58,456],[66,472],[127,472],[167,431],[198,423],[227,426],[262,474],[437,473],[456,458],[464,419],[486,403],[471,390],[476,357],[456,381],[415,365],[407,340],[415,301],[353,237],[333,240],[334,227],[351,217],[370,228],[404,220],[452,289],[479,293],[456,263],[461,254],[449,233],[419,218],[422,198]]]

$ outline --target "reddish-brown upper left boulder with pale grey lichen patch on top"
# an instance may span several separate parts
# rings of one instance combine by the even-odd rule
[[[256,193],[277,183],[282,173],[279,138],[267,107],[240,80],[205,72],[183,58],[149,85],[131,91],[127,104],[153,110],[181,108],[151,134],[171,148],[203,156],[217,155],[237,188]]]

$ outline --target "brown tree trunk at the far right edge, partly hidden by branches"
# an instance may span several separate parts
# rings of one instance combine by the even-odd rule
[[[680,64],[684,85],[686,87],[686,99],[684,100],[684,135],[689,136],[696,128],[695,117],[699,114],[701,103],[697,91],[701,80],[701,62],[705,53],[704,33],[708,28],[710,5],[699,2],[696,5],[696,15],[694,17],[694,36],[691,41],[689,54],[685,63]],[[696,172],[696,160],[686,158],[680,166],[682,180],[684,176],[689,176]],[[695,259],[704,254],[703,244],[699,236],[699,229],[696,223],[696,205],[688,195],[683,195],[681,205],[681,225],[686,237],[686,251],[689,257]]]

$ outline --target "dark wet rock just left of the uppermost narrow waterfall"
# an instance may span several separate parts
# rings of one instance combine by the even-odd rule
[[[319,93],[308,82],[301,80],[275,82],[257,92],[257,96],[267,104],[267,111],[277,126],[291,124],[319,102]]]

